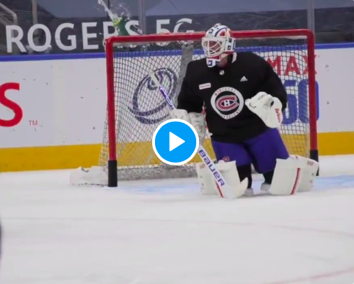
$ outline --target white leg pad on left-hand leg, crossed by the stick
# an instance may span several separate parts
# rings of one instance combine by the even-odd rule
[[[242,183],[239,181],[239,174],[237,172],[235,161],[230,161],[227,163],[224,161],[219,161],[219,163],[216,164],[216,167],[220,170],[221,174],[223,174],[228,186],[237,191],[237,197],[244,195],[248,185],[248,179],[244,179]],[[218,187],[212,177],[212,173],[205,166],[205,164],[197,163],[196,171],[202,195],[219,195]]]

